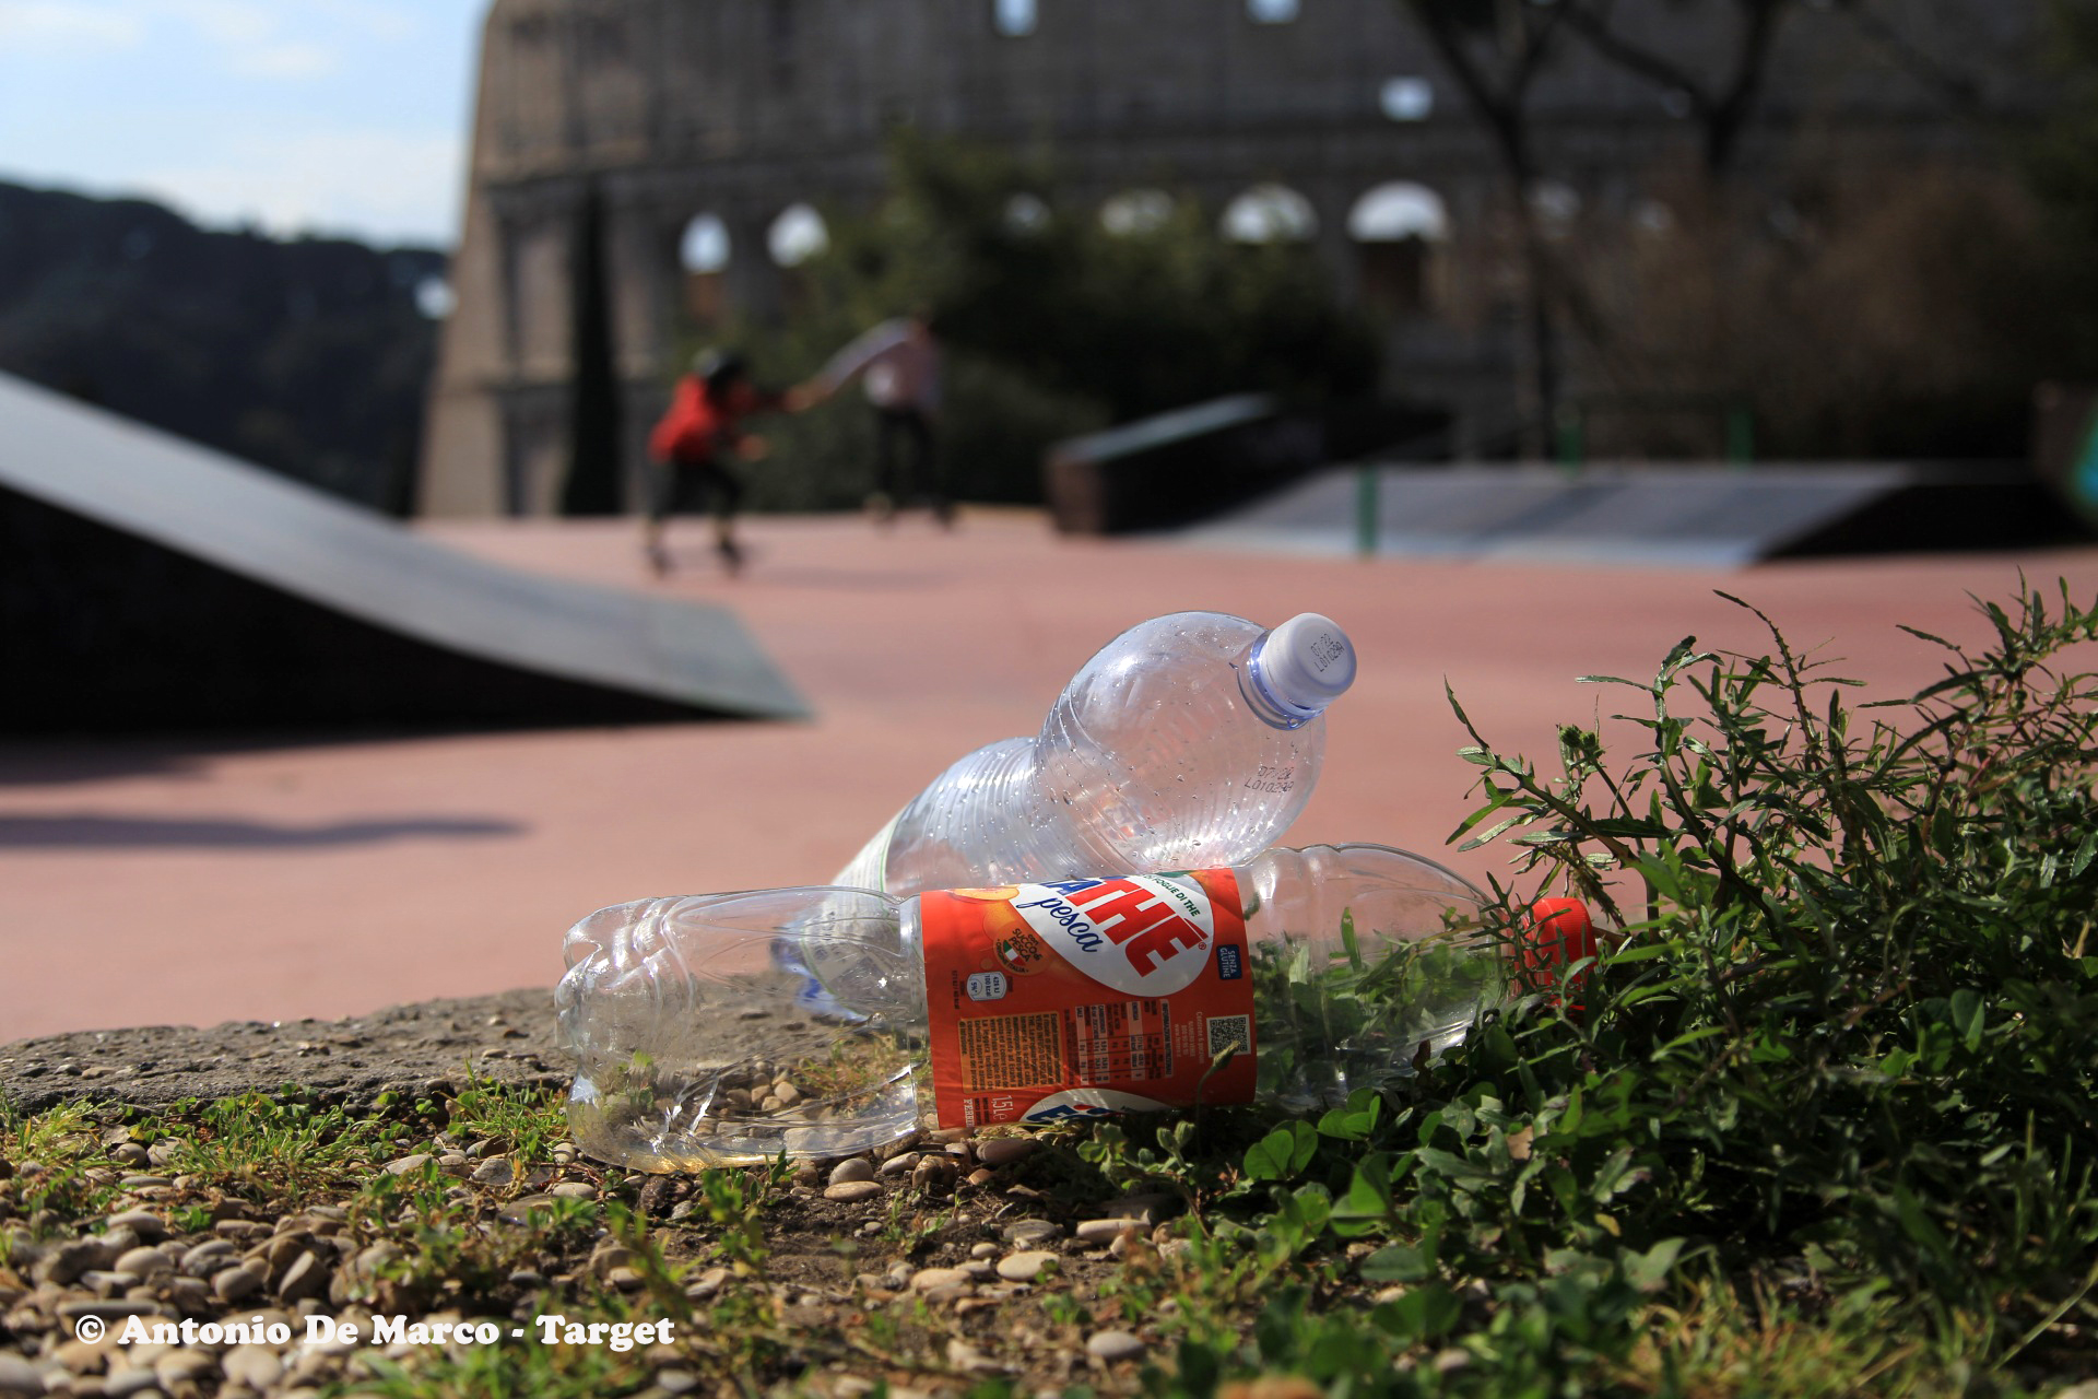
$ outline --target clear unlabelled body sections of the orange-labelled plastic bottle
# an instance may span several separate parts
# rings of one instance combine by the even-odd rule
[[[1433,860],[1315,845],[1232,873],[1263,1101],[1311,1110],[1387,1086],[1508,994],[1485,898]],[[841,1156],[919,1126],[919,912],[917,898],[810,887],[640,900],[577,923],[556,990],[579,1059],[577,1143],[678,1170]]]

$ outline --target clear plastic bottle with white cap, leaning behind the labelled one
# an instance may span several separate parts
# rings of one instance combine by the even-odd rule
[[[1271,631],[1154,617],[1085,663],[1041,734],[942,772],[833,883],[902,898],[1250,860],[1311,799],[1322,715],[1353,680],[1353,642],[1318,612]]]

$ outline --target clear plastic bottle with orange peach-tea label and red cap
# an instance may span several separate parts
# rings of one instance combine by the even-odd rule
[[[682,1170],[934,1122],[1334,1105],[1414,1074],[1481,1009],[1557,994],[1594,952],[1574,900],[1496,919],[1460,875],[1383,845],[908,900],[619,904],[569,931],[554,994],[571,1128],[600,1160]],[[787,967],[843,1013],[812,1011]]]

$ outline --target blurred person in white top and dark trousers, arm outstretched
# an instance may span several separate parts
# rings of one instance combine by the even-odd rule
[[[955,518],[955,503],[940,480],[940,342],[932,315],[915,310],[875,325],[831,357],[804,392],[829,399],[852,378],[860,380],[875,409],[875,489],[866,510],[887,522],[898,505],[923,499],[942,524]],[[908,440],[911,466],[900,472],[898,438]]]

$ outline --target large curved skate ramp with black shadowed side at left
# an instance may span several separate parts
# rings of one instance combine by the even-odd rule
[[[480,562],[6,375],[0,654],[31,732],[808,713],[732,612]]]

